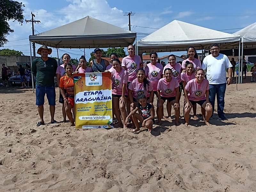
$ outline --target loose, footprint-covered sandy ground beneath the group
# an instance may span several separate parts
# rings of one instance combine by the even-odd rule
[[[32,89],[0,88],[0,191],[256,191],[255,93],[256,83],[228,86],[228,120],[214,114],[212,126],[163,121],[133,134],[69,123],[36,127]],[[48,105],[44,114],[49,123]],[[61,116],[58,103],[55,119]]]

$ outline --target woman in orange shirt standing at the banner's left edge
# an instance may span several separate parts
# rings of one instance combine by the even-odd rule
[[[67,74],[60,78],[60,93],[64,98],[64,107],[66,114],[68,116],[68,119],[70,121],[71,126],[75,126],[75,122],[72,115],[72,108],[75,106],[75,100],[74,100],[74,77],[73,77],[73,66],[71,64],[66,64],[64,66],[65,71]],[[64,89],[67,90],[67,93],[65,95]]]

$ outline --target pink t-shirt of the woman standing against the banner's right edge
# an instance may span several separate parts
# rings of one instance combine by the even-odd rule
[[[122,95],[123,84],[127,84],[127,81],[128,81],[128,72],[125,69],[121,68],[121,71],[118,73],[114,69],[111,72],[111,76],[112,76],[112,94]],[[125,95],[128,95],[127,86],[125,86],[125,88],[126,88]]]

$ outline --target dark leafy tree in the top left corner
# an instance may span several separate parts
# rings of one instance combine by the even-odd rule
[[[18,1],[12,0],[1,0],[0,1],[0,46],[3,46],[4,43],[7,43],[8,40],[6,36],[14,32],[10,28],[10,25],[7,21],[12,20],[13,22],[18,21],[22,25],[24,16],[23,9],[24,4],[19,3]]]

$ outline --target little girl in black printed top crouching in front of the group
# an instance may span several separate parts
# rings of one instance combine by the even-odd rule
[[[139,113],[136,113],[136,111],[139,110]],[[142,127],[146,127],[149,131],[151,131],[153,124],[155,123],[155,110],[154,107],[147,103],[147,98],[144,94],[139,94],[137,96],[137,106],[136,108],[130,112],[130,114],[125,119],[125,125],[128,124],[129,118],[132,116],[135,124],[135,129],[132,129],[132,133],[139,131],[139,122],[142,122]]]

